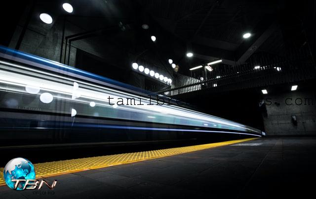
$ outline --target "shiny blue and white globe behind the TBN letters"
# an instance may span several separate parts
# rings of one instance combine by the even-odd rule
[[[27,159],[22,157],[17,157],[11,159],[4,167],[3,176],[6,185],[13,189],[15,182],[12,180],[33,180],[35,179],[34,165]],[[25,181],[19,183],[16,190],[23,190]]]

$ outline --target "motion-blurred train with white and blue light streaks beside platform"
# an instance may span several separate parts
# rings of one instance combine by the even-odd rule
[[[148,105],[155,95],[0,47],[0,145],[155,141],[205,134],[262,136],[258,129],[190,110],[174,99]],[[136,105],[118,105],[120,99],[134,99]]]

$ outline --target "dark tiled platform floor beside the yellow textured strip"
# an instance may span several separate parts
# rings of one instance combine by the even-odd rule
[[[262,138],[229,146],[48,177],[53,191],[13,191],[13,198],[310,198],[316,138]],[[313,197],[312,197],[313,198]]]

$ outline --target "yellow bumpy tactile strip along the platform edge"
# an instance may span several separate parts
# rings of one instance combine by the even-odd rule
[[[78,172],[88,169],[96,169],[118,164],[130,163],[135,161],[142,161],[146,159],[165,157],[180,153],[192,152],[196,150],[209,149],[214,147],[221,147],[225,145],[232,145],[240,142],[250,141],[257,138],[249,138],[243,140],[233,140],[221,143],[211,143],[204,145],[195,145],[189,147],[178,147],[171,149],[159,149],[132,153],[122,153],[115,155],[105,155],[97,157],[86,157],[79,159],[61,160],[45,163],[34,164],[36,177],[48,177],[52,175],[61,175],[66,173]],[[3,179],[3,168],[0,168],[0,186],[5,185]]]

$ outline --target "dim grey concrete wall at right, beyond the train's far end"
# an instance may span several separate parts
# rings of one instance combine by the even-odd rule
[[[265,97],[266,112],[263,114],[268,136],[315,135],[316,100],[313,92],[292,91]],[[296,115],[297,125],[292,122]]]

